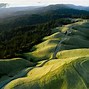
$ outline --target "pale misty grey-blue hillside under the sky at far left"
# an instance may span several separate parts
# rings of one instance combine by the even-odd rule
[[[0,8],[0,18],[6,18],[10,16],[19,15],[22,11],[31,11],[38,8],[37,6],[29,6],[29,7],[8,7],[8,8]],[[23,14],[23,13],[21,13]]]

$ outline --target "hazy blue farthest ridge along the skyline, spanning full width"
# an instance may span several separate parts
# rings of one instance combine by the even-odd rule
[[[5,6],[6,4],[3,4]],[[2,6],[2,4],[0,5]],[[89,7],[85,6],[76,6],[73,4],[56,4],[49,6],[28,6],[28,7],[10,7],[10,8],[0,8],[0,18],[7,16],[20,16],[20,15],[30,15],[30,14],[39,14],[42,12],[53,11],[58,9],[76,9],[76,10],[85,10],[89,11]]]

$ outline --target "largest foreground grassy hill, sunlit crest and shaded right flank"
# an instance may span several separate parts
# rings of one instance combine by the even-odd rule
[[[87,57],[86,50],[80,50],[80,53],[83,54],[79,57],[50,60],[43,67],[32,69],[26,77],[11,81],[3,89],[88,89],[89,53]]]

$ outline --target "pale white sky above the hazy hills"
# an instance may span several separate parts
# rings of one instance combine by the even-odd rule
[[[89,6],[89,0],[0,0],[0,3],[8,3],[15,6],[43,6],[49,4],[75,4]]]

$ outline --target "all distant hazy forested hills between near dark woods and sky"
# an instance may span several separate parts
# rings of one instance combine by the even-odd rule
[[[0,9],[0,30],[36,25],[59,18],[89,18],[89,12],[57,4],[45,7],[17,7]],[[8,16],[8,17],[6,17]],[[4,18],[3,18],[4,17]]]

